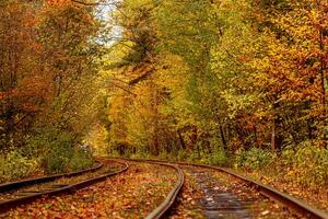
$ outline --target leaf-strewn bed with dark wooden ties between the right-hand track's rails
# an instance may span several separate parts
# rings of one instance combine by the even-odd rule
[[[298,218],[230,175],[201,168],[181,168],[186,185],[168,218]]]

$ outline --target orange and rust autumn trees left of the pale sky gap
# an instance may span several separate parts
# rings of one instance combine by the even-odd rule
[[[94,8],[70,0],[0,2],[1,150],[50,129],[83,135],[101,27]]]

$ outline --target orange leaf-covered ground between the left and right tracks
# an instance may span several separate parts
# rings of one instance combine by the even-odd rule
[[[71,195],[42,198],[3,218],[144,218],[164,200],[176,180],[172,169],[131,163],[120,175]]]

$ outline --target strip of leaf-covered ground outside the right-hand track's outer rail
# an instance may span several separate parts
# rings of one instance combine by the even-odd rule
[[[288,193],[318,209],[328,212],[328,187],[319,187],[317,185],[302,186],[296,182],[295,178],[286,178],[285,171],[273,169],[263,169],[259,171],[237,170],[237,172],[266,185],[270,185],[283,193]]]

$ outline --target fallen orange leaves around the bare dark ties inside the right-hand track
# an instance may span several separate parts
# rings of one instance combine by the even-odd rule
[[[245,183],[235,180],[232,176],[198,168],[184,168],[186,173],[186,184],[180,194],[179,201],[174,206],[169,216],[172,219],[185,218],[208,218],[209,214],[214,214],[211,217],[220,218],[220,210],[207,212],[203,203],[215,197],[218,193],[231,193],[235,197],[234,201],[239,201],[245,205],[245,211],[251,218],[267,218],[267,219],[291,219],[297,216],[288,211],[284,207],[265,198],[259,193],[249,188]],[[200,173],[200,174],[199,174]],[[207,174],[209,177],[203,177],[201,174]],[[204,186],[204,184],[207,184]],[[212,188],[209,192],[209,188]],[[226,200],[222,200],[226,201]],[[218,208],[222,207],[222,203],[218,204]],[[224,218],[224,214],[222,214]],[[229,218],[243,218],[243,216],[230,215]]]

